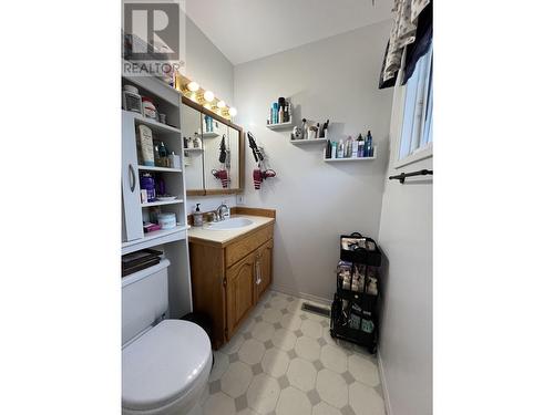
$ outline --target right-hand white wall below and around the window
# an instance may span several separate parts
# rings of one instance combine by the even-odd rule
[[[393,167],[401,123],[394,92],[388,175],[432,168],[432,159]],[[432,413],[432,178],[386,180],[379,243],[387,257],[379,360],[389,415]],[[387,396],[388,395],[388,396]]]

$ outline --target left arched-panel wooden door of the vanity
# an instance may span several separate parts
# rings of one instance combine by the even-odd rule
[[[255,253],[228,268],[226,272],[227,341],[254,307]]]

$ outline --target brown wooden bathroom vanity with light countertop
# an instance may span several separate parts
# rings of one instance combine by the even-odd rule
[[[188,231],[193,309],[211,317],[214,349],[230,340],[273,279],[275,210],[242,207],[232,215],[252,224]]]

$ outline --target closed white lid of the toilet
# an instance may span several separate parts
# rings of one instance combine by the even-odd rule
[[[211,353],[198,325],[162,321],[122,351],[123,407],[152,409],[176,400],[193,387]]]

